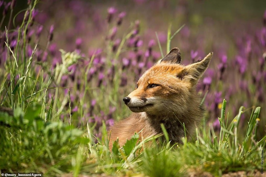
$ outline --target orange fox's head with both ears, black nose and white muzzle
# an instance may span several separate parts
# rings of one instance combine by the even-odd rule
[[[188,112],[197,98],[196,84],[209,66],[212,52],[196,63],[181,65],[181,53],[173,48],[163,59],[148,69],[124,103],[132,112],[151,115]]]

